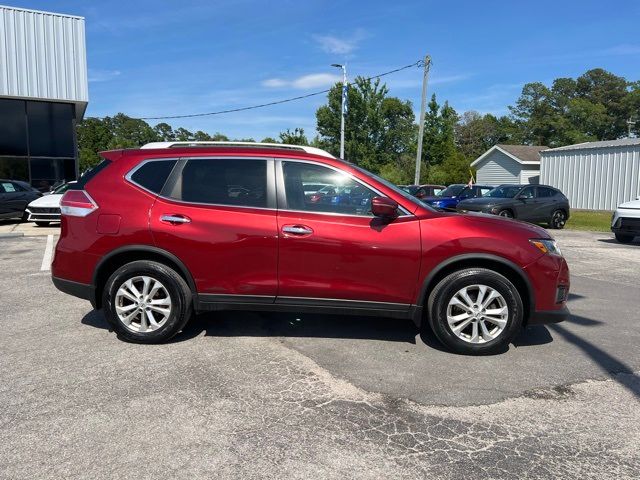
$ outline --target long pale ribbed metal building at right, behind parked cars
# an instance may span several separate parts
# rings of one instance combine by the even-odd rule
[[[540,152],[540,183],[572,208],[615,210],[640,195],[640,138],[579,143]]]

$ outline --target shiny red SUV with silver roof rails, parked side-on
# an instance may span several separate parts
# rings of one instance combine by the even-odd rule
[[[61,201],[52,275],[126,340],[165,341],[194,311],[308,311],[410,318],[480,354],[568,315],[545,230],[435,211],[322,150],[174,142],[102,157]],[[313,185],[343,193],[313,202]]]

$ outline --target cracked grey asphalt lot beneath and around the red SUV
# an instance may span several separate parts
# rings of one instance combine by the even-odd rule
[[[490,357],[409,322],[220,312],[124,343],[0,239],[0,478],[638,478],[640,243],[554,232],[571,319]]]

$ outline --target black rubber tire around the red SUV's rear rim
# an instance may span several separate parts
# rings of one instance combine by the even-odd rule
[[[135,332],[127,328],[116,314],[115,301],[118,289],[129,279],[147,276],[159,281],[171,299],[171,311],[157,330]],[[152,261],[136,261],[118,268],[107,280],[102,292],[104,315],[118,337],[135,343],[162,343],[184,328],[191,316],[191,290],[173,269]]]

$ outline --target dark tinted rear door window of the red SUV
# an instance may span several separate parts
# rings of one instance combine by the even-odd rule
[[[267,162],[257,159],[191,159],[172,197],[185,202],[267,207]]]

